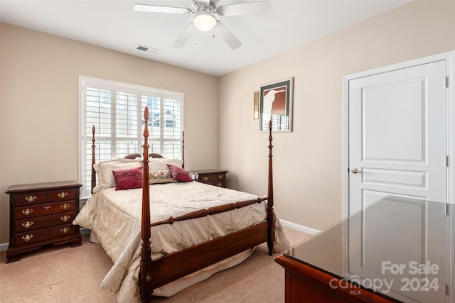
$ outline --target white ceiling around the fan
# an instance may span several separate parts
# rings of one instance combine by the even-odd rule
[[[255,0],[219,0],[218,5]],[[217,16],[242,42],[232,50],[220,38],[198,32],[182,49],[171,45],[193,16],[145,13],[133,5],[191,7],[191,0],[1,0],[0,20],[150,60],[221,76],[295,48],[310,40],[395,9],[410,0],[272,0],[271,13]],[[137,45],[160,50],[152,54]]]

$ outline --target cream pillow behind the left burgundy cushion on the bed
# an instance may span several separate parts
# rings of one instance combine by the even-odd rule
[[[93,188],[93,192],[95,193],[102,188],[115,187],[114,174],[112,174],[112,170],[123,170],[125,168],[133,168],[141,165],[141,159],[118,158],[98,162],[93,165],[93,168],[95,168],[95,172],[98,175],[98,183],[97,186]]]

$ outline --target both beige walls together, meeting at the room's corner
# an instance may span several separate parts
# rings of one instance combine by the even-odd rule
[[[294,77],[294,131],[274,134],[275,209],[321,229],[342,216],[343,76],[455,50],[455,2],[416,1],[220,78],[4,23],[0,50],[0,243],[11,184],[77,179],[78,75],[185,93],[187,168],[229,170],[229,187],[259,195],[268,142],[252,95]]]

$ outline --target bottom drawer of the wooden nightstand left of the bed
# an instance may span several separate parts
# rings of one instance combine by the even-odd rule
[[[40,229],[38,231],[29,231],[28,233],[18,233],[14,236],[14,243],[16,246],[21,246],[30,243],[50,240],[53,238],[71,236],[75,233],[76,227],[74,225],[55,226],[51,228]]]

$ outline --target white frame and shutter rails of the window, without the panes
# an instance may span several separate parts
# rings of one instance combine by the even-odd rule
[[[142,104],[143,102],[143,97],[144,98],[157,98],[159,99],[159,126],[155,126],[153,129],[149,127],[149,145],[151,147],[149,148],[149,153],[160,153],[161,155],[164,155],[165,157],[168,158],[180,158],[181,157],[181,143],[182,143],[182,133],[183,133],[183,99],[184,99],[184,94],[180,92],[171,92],[171,91],[166,91],[164,89],[155,89],[152,87],[144,87],[144,86],[139,86],[135,84],[127,84],[123,82],[115,82],[115,81],[110,81],[107,79],[99,79],[99,78],[94,78],[94,77],[86,77],[86,76],[79,76],[79,180],[82,183],[82,191],[81,191],[81,198],[87,198],[90,197],[90,173],[87,172],[87,170],[91,171],[91,146],[92,146],[92,134],[91,134],[91,126],[90,126],[90,133],[89,133],[89,127],[87,125],[87,117],[86,117],[86,100],[85,100],[85,88],[86,87],[92,87],[95,89],[106,89],[110,91],[111,93],[111,121],[112,121],[112,126],[111,126],[111,134],[110,136],[103,137],[100,135],[98,132],[99,130],[96,129],[95,126],[95,145],[97,146],[97,150],[100,150],[100,141],[108,141],[110,142],[110,155],[100,155],[97,152],[97,157],[96,157],[96,162],[100,162],[102,160],[109,160],[109,159],[114,159],[114,158],[120,158],[123,156],[120,155],[119,151],[116,152],[116,141],[117,138],[119,141],[137,141],[137,144],[133,146],[131,149],[128,148],[128,153],[139,153],[142,154],[142,144],[144,143],[144,138],[142,136],[142,133],[144,131],[143,125],[142,125],[142,120],[144,119],[144,112],[143,109],[145,105],[147,104]],[[135,94],[137,97],[137,130],[132,130],[133,135],[130,136],[117,136],[115,134],[116,132],[116,122],[115,122],[115,104],[116,104],[116,94],[117,92],[122,92],[122,93],[130,93],[130,94]],[[165,120],[165,109],[166,107],[163,105],[164,103],[167,103],[166,101],[171,101],[170,104],[175,104],[175,101],[180,101],[180,112],[176,113],[176,116],[179,117],[180,119],[177,118],[177,127],[176,128],[171,128],[171,131],[173,131],[173,135],[169,138],[166,138],[165,136],[165,128],[166,128],[166,120]],[[153,117],[154,117],[154,111],[156,109],[152,109],[152,106],[149,105],[149,126],[154,126],[153,122]],[[178,111],[178,106],[177,106],[177,111]],[[172,115],[173,117],[175,115]],[[134,120],[134,119],[133,119]],[[134,127],[133,127],[134,128]],[[159,128],[157,130],[157,128]],[[178,133],[174,131],[176,129]],[[99,143],[97,145],[97,142]],[[176,149],[173,150],[164,150],[166,146],[175,145]],[[90,151],[90,155],[87,155]],[[103,158],[104,157],[104,158]],[[90,162],[89,162],[90,161]]]

